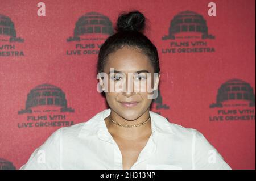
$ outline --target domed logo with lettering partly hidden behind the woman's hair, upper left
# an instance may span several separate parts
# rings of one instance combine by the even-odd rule
[[[75,42],[75,50],[67,50],[67,55],[98,54],[104,41],[114,32],[110,19],[98,12],[82,15],[75,24],[73,36],[67,42]]]

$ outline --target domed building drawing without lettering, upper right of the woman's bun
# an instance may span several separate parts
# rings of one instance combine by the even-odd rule
[[[206,20],[202,15],[193,11],[183,11],[174,16],[171,20],[169,34],[163,36],[163,40],[172,39],[180,34],[186,37],[201,37],[202,39],[214,39],[213,35],[208,33]]]

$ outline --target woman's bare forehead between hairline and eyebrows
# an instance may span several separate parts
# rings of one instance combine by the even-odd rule
[[[130,47],[123,47],[109,54],[104,71],[109,73],[110,68],[122,72],[136,72],[143,69],[154,72],[148,56],[139,49]]]

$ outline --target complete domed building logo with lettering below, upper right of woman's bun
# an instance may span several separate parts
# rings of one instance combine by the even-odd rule
[[[212,39],[215,36],[209,34],[207,22],[202,15],[183,11],[174,16],[168,35],[162,37],[169,44],[162,49],[162,53],[215,52],[214,47],[209,47],[209,40]]]

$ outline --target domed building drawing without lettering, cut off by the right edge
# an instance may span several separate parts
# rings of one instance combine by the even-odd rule
[[[240,79],[226,81],[218,89],[216,103],[210,108],[224,106],[249,106],[255,107],[255,94],[249,83]]]

